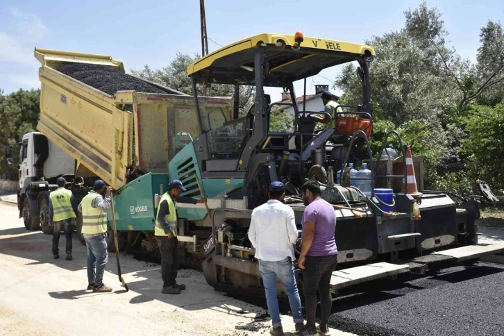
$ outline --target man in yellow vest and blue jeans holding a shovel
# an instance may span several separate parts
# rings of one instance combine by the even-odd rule
[[[82,234],[87,245],[87,289],[94,293],[112,292],[103,284],[103,272],[108,261],[107,210],[110,207],[112,187],[103,180],[96,180],[93,190],[79,203],[82,212]]]

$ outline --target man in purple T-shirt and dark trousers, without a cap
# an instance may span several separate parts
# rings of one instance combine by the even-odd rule
[[[308,180],[301,187],[306,208],[301,219],[303,235],[298,264],[303,271],[306,326],[294,335],[329,335],[328,320],[332,298],[330,277],[337,265],[336,215],[333,205],[321,199],[319,182]],[[315,328],[317,290],[320,296],[320,325]]]

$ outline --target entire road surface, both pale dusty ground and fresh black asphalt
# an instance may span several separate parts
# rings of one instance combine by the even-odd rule
[[[504,240],[504,219],[483,224],[480,242]],[[268,334],[264,302],[214,292],[199,271],[181,270],[187,290],[166,296],[158,264],[121,253],[121,268],[130,292],[117,280],[114,253],[105,275],[114,292],[86,291],[85,246],[74,237],[74,260],[53,260],[51,237],[26,231],[15,205],[0,202],[0,335]],[[335,298],[330,319],[348,333],[332,335],[504,335],[503,283],[504,265],[478,262],[352,287]],[[294,329],[287,316],[283,324]]]

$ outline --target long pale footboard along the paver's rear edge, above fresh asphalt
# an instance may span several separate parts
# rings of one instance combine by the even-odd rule
[[[504,243],[476,244],[434,252],[430,255],[423,255],[421,257],[414,258],[411,262],[405,264],[377,262],[375,264],[342,269],[333,272],[330,279],[330,291],[337,293],[339,289],[344,287],[365,283],[379,278],[387,278],[389,276],[412,272],[414,269],[418,269],[419,265],[422,264],[428,266],[428,264],[435,264],[437,262],[464,262],[503,252]]]

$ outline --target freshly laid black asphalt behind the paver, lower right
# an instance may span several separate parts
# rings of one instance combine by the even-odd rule
[[[504,335],[504,265],[451,267],[339,296],[330,326],[366,336]]]

